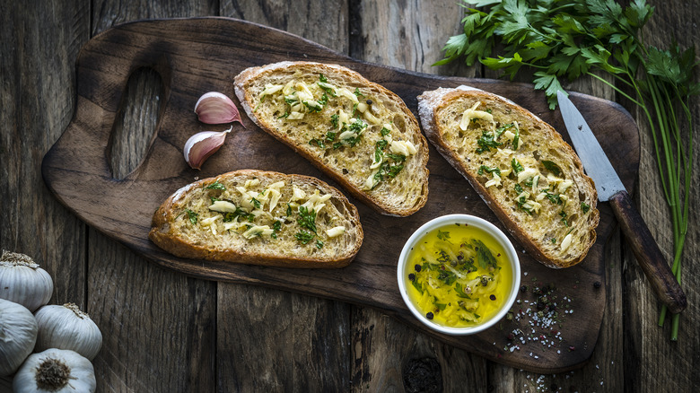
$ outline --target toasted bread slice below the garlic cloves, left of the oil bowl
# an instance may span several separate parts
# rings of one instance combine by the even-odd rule
[[[357,209],[319,179],[236,170],[180,188],[153,214],[149,237],[182,258],[342,267],[363,242]]]

